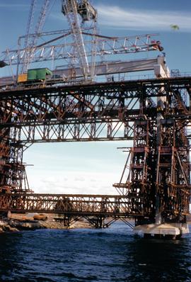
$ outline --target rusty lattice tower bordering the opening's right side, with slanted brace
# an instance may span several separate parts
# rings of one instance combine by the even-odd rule
[[[134,121],[134,144],[128,156],[129,174],[124,182],[125,170],[119,184],[113,186],[122,195],[131,195],[132,201],[137,195],[142,197],[144,216],[151,220],[154,218],[154,205],[156,191],[154,188],[154,175],[156,167],[156,122],[147,120],[140,115]],[[130,157],[130,158],[129,158]],[[127,167],[128,161],[125,164]]]

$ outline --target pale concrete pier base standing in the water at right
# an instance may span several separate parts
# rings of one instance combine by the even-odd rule
[[[156,237],[156,238],[169,238],[177,239],[183,234],[189,233],[189,227],[187,223],[161,223],[161,224],[149,224],[149,225],[137,225],[134,227],[134,232],[138,234],[144,234],[144,237]]]

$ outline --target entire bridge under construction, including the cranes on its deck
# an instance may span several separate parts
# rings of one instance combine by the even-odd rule
[[[0,79],[0,212],[60,213],[66,226],[80,218],[95,227],[118,219],[131,225],[128,220],[133,218],[135,229],[144,234],[189,232],[191,77],[170,77],[161,54],[152,59],[96,63],[96,55],[162,51],[163,47],[151,40],[153,35],[98,35],[96,10],[86,0],[62,1],[70,30],[42,33],[48,2],[42,6],[36,32],[30,35],[32,1],[27,35],[18,40],[18,50],[6,50],[1,57],[2,67],[17,64],[17,74]],[[81,28],[80,16],[83,23],[93,21],[93,26]],[[59,36],[50,39],[55,34]],[[84,41],[83,35],[91,40]],[[41,36],[49,39],[37,44]],[[52,45],[69,36],[69,43]],[[52,56],[67,60],[67,67],[53,72],[28,69],[31,63],[47,62]],[[116,81],[114,77],[148,70],[154,71],[155,78]],[[98,76],[100,82],[94,79]],[[133,142],[126,148],[120,181],[113,184],[117,195],[30,190],[23,153],[33,143],[112,140]]]

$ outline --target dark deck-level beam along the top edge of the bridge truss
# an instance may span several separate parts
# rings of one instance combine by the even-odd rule
[[[1,79],[0,79],[1,81]],[[126,98],[139,97],[140,91],[148,89],[148,96],[158,96],[156,90],[161,89],[163,86],[164,89],[176,89],[178,87],[190,89],[191,77],[169,77],[169,78],[157,78],[157,79],[136,79],[136,80],[127,80],[127,81],[109,81],[109,82],[96,82],[91,84],[79,84],[68,85],[66,82],[62,81],[52,81],[52,86],[46,84],[43,87],[43,84],[40,82],[26,85],[14,85],[10,87],[2,87],[0,89],[1,98],[6,97],[21,97],[25,94],[30,97],[33,96],[43,96],[44,94],[54,94],[61,95],[69,94],[69,91],[78,91],[78,93],[83,94],[97,94],[98,96],[107,96],[108,94],[114,94],[117,91],[125,91],[127,94],[124,94]],[[0,84],[1,85],[1,84]],[[6,86],[6,85],[5,85]],[[170,89],[169,89],[170,87]],[[150,92],[149,90],[153,91]],[[159,91],[160,95],[165,95],[163,91]]]

